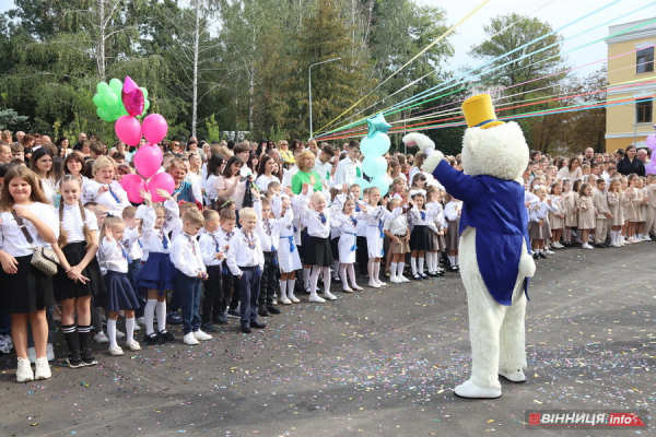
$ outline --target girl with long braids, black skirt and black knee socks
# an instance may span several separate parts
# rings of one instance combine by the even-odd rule
[[[61,300],[67,362],[70,368],[79,368],[97,364],[89,346],[91,298],[104,293],[105,285],[96,259],[98,223],[80,200],[82,181],[74,175],[66,175],[61,178],[60,191],[59,238],[52,247],[60,265],[54,285],[55,295]]]

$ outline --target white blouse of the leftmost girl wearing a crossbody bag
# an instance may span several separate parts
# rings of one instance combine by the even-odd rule
[[[40,202],[34,202],[30,206],[26,206],[32,213],[38,216],[52,232],[55,238],[59,238],[59,220],[51,205]],[[14,220],[10,211],[0,213],[0,248],[12,257],[26,257],[34,253],[34,248],[25,239],[25,235],[19,227],[19,224]],[[25,228],[32,236],[34,246],[36,247],[50,247],[36,231],[36,227],[31,221],[23,218]]]

